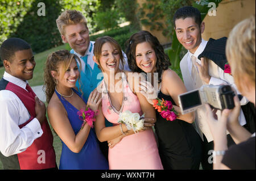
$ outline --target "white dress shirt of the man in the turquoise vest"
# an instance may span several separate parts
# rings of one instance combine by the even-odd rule
[[[87,57],[87,64],[90,65],[90,67],[92,68],[92,70],[93,70],[93,68],[94,68],[94,64],[95,64],[95,62],[93,61],[93,56],[94,56],[94,54],[93,54],[94,43],[95,43],[95,41],[90,41],[90,45],[89,45],[89,47],[88,47],[88,49],[86,50],[86,52],[85,52],[84,55],[81,55],[81,54],[77,53],[77,52],[74,50],[74,54],[75,54],[77,57],[80,58],[81,65],[82,65],[82,71],[85,71],[85,70],[84,70],[84,69],[85,69],[85,62],[82,60],[81,57],[86,56],[86,54],[88,55],[88,57]],[[92,45],[92,51],[89,51],[91,45]],[[123,62],[123,63],[124,63],[124,70],[130,71],[130,68],[129,68],[129,65],[128,65],[128,62],[127,62],[127,56],[126,56],[126,54],[125,54],[123,51],[122,51],[122,53],[123,53],[123,59],[124,59],[124,62]],[[77,63],[79,64],[79,62],[77,62]],[[119,68],[120,68],[120,69],[123,69],[121,64],[119,64]]]

